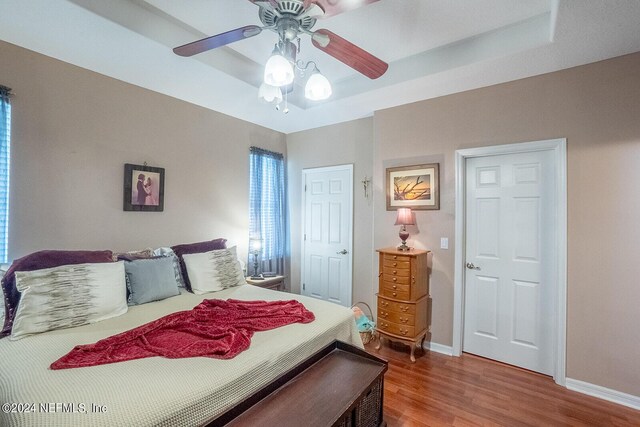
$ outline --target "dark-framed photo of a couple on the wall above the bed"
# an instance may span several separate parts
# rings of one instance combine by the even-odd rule
[[[164,210],[164,168],[124,165],[124,210],[162,212]]]

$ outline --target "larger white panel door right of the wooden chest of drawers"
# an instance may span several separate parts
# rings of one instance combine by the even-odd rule
[[[553,154],[466,161],[463,349],[553,373]]]

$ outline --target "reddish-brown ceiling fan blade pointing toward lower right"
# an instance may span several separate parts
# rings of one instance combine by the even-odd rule
[[[370,79],[377,79],[389,68],[389,64],[386,62],[329,30],[317,30],[311,36],[311,41],[321,51],[333,56],[338,61]]]

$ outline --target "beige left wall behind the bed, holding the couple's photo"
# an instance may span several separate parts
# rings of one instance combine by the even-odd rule
[[[249,146],[285,136],[0,42],[13,89],[11,258],[226,237],[245,254]],[[215,94],[211,94],[215,96]],[[124,212],[124,163],[164,167],[164,212]]]

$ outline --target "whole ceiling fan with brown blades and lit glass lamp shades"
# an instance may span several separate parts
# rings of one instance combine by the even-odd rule
[[[265,64],[263,84],[258,90],[258,96],[266,103],[275,103],[276,109],[279,109],[280,103],[284,100],[285,114],[289,111],[288,94],[293,92],[296,78],[300,85],[308,76],[304,96],[310,101],[326,100],[332,93],[331,83],[320,73],[315,62],[297,59],[300,53],[301,36],[311,36],[311,44],[314,47],[370,79],[377,79],[389,68],[386,62],[331,31],[323,28],[313,30],[317,19],[335,16],[378,0],[250,1],[259,7],[258,16],[263,26],[245,25],[205,37],[174,48],[174,53],[190,57],[257,36],[264,30],[274,32],[278,35],[278,41]],[[308,70],[311,72],[308,73]],[[293,101],[301,97],[296,93]]]

